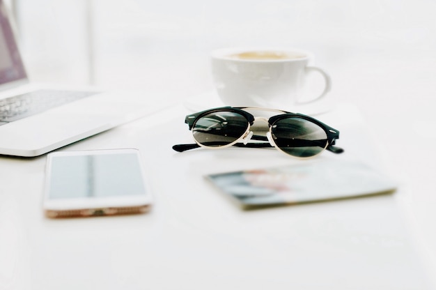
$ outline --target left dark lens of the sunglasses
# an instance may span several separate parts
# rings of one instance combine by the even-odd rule
[[[203,146],[225,146],[240,139],[249,122],[237,112],[211,112],[198,118],[192,127],[196,142]]]

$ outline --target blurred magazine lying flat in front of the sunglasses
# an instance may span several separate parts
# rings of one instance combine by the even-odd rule
[[[386,194],[396,183],[362,162],[302,160],[267,169],[208,174],[208,180],[242,208],[303,204]]]

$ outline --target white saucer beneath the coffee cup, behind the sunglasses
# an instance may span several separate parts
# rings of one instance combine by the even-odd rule
[[[193,96],[187,99],[183,105],[192,112],[200,112],[205,109],[212,109],[215,107],[224,107],[226,104],[219,99],[219,96],[215,91],[208,91],[201,93],[200,95]],[[271,107],[272,109],[282,109],[288,112],[301,113],[309,116],[316,116],[320,114],[325,114],[334,109],[334,101],[331,96],[327,96],[322,100],[316,102],[311,102],[304,105],[292,105],[283,107]]]

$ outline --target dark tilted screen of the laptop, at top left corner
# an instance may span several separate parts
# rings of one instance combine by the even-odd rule
[[[8,11],[0,0],[0,85],[26,79],[26,71],[8,19]]]

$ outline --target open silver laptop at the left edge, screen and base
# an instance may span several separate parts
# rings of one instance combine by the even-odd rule
[[[30,84],[0,0],[0,155],[42,155],[159,109],[148,102],[139,93]]]

